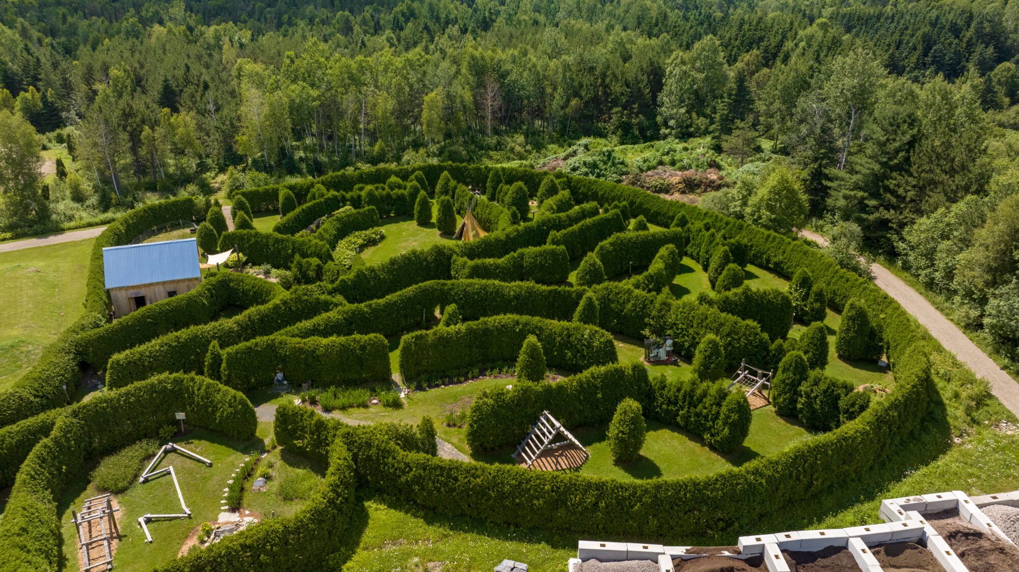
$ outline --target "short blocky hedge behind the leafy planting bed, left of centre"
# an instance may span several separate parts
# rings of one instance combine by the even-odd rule
[[[223,351],[220,381],[239,391],[272,383],[277,368],[293,383],[314,380],[319,386],[354,386],[387,381],[389,345],[378,334],[342,338],[265,336]]]

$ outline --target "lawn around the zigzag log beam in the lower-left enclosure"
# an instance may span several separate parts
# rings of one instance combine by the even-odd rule
[[[180,512],[173,480],[168,474],[156,477],[145,484],[136,480],[130,489],[115,499],[120,504],[120,542],[113,563],[117,570],[148,571],[177,557],[184,539],[192,530],[206,521],[215,521],[219,515],[219,499],[226,481],[245,457],[262,451],[261,440],[239,443],[206,430],[196,428],[186,437],[174,439],[189,451],[211,460],[211,467],[185,457],[180,453],[165,456],[156,468],[173,466],[180,483],[184,504],[192,511],[190,519],[162,520],[148,524],[152,534],[151,545],[145,541],[145,532],[138,525],[138,517],[146,514],[174,514]],[[76,569],[77,539],[70,522],[71,509],[82,508],[85,499],[100,493],[89,484],[90,464],[82,473],[71,478],[64,495],[57,504],[63,534],[64,569]],[[142,467],[145,468],[145,467]]]

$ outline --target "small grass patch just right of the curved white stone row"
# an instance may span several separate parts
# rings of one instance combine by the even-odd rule
[[[259,469],[269,467],[271,477],[267,480],[268,491],[253,493],[251,490],[255,475],[245,482],[242,497],[244,508],[257,512],[266,518],[290,516],[298,512],[305,502],[314,495],[325,477],[326,467],[277,448],[259,462]],[[258,470],[255,471],[256,473]]]

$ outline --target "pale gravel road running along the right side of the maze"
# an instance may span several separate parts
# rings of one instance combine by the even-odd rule
[[[811,240],[815,240],[821,246],[827,244],[827,240],[809,230],[801,230],[800,234]],[[921,326],[930,332],[945,349],[951,351],[960,361],[969,366],[978,378],[984,378],[990,384],[990,391],[1010,411],[1019,415],[1019,384],[1008,374],[995,363],[994,359],[976,347],[966,334],[963,334],[955,324],[937,311],[930,302],[919,292],[910,288],[898,276],[889,272],[881,265],[874,263],[870,266],[870,272],[874,275],[874,284],[884,290],[888,295],[895,298],[906,311],[913,314]]]

